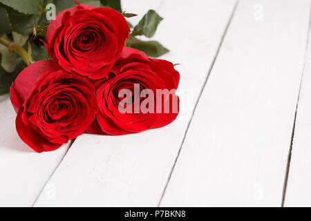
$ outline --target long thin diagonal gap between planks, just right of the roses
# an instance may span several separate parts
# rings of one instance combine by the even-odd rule
[[[202,88],[201,88],[201,90],[200,90],[200,94],[199,94],[199,96],[198,96],[198,99],[196,100],[196,104],[195,104],[195,106],[194,106],[194,111],[192,111],[191,118],[190,118],[190,120],[189,120],[189,122],[188,122],[186,131],[185,131],[185,135],[184,135],[184,137],[182,138],[182,143],[180,144],[180,148],[179,148],[178,153],[177,153],[177,155],[176,155],[176,158],[175,158],[173,167],[172,167],[172,169],[171,169],[171,172],[169,173],[169,177],[168,177],[168,179],[167,179],[167,184],[165,184],[163,193],[162,193],[161,198],[160,198],[160,201],[159,201],[159,203],[158,203],[158,207],[160,206],[160,204],[161,204],[161,202],[162,202],[162,200],[163,200],[164,194],[165,194],[165,192],[167,191],[167,186],[169,185],[169,181],[171,180],[171,175],[173,174],[173,171],[174,171],[174,169],[175,169],[176,162],[177,162],[177,160],[178,160],[178,157],[179,157],[179,155],[180,155],[180,151],[181,151],[181,149],[182,149],[182,145],[183,145],[184,142],[185,142],[185,138],[186,138],[186,136],[187,136],[187,132],[188,132],[188,130],[189,130],[189,126],[190,126],[190,124],[191,124],[192,118],[194,117],[194,113],[196,112],[196,107],[198,106],[198,102],[200,102],[200,97],[201,97],[201,95],[202,95],[202,93],[203,93],[203,90],[205,89],[205,86],[207,85],[207,81],[208,81],[208,79],[209,79],[209,75],[211,74],[211,71],[212,71],[213,68],[214,68],[214,64],[215,64],[215,61],[216,61],[216,59],[217,59],[217,57],[218,57],[220,48],[223,46],[223,40],[225,39],[225,36],[226,36],[226,34],[227,34],[227,30],[228,30],[228,28],[229,28],[229,26],[230,26],[230,23],[231,23],[231,21],[232,21],[232,19],[233,19],[233,17],[234,17],[235,12],[236,12],[236,8],[237,8],[237,6],[238,6],[238,1],[239,1],[239,0],[236,0],[236,3],[235,3],[234,8],[233,8],[233,10],[232,10],[232,14],[231,14],[230,17],[229,17],[229,20],[228,20],[228,22],[227,22],[227,26],[226,26],[226,28],[225,28],[225,31],[223,32],[223,36],[221,37],[220,43],[218,44],[218,48],[217,48],[217,50],[216,50],[216,54],[215,54],[215,56],[214,56],[214,59],[213,59],[213,61],[211,62],[211,66],[210,66],[210,68],[209,68],[209,70],[208,70],[208,72],[207,72],[207,77],[205,78],[205,81],[204,81],[204,84],[203,84],[203,86],[202,86]]]

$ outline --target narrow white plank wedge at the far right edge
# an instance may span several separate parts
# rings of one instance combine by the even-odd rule
[[[311,206],[311,35],[296,113],[284,206]]]

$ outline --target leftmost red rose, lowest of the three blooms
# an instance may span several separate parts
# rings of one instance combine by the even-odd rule
[[[25,68],[10,88],[10,99],[19,137],[39,153],[84,133],[98,109],[93,84],[55,68],[52,60]]]

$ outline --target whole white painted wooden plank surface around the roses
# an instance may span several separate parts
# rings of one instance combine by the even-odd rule
[[[311,206],[310,3],[123,0],[164,17],[180,115],[38,154],[2,95],[0,206]]]

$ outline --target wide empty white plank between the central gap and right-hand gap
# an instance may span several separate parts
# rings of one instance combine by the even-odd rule
[[[239,1],[161,206],[281,206],[309,17]]]

